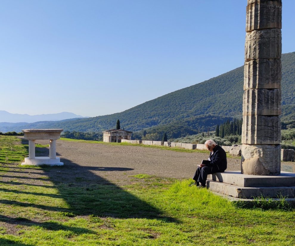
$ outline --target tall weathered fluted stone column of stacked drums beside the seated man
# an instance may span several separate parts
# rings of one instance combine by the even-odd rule
[[[282,0],[248,0],[241,173],[281,169]]]

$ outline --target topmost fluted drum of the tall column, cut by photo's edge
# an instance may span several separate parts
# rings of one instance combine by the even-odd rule
[[[254,1],[246,8],[246,32],[282,28],[282,1]]]

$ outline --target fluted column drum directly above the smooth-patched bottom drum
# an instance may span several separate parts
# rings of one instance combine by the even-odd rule
[[[243,115],[243,144],[280,144],[280,116]]]

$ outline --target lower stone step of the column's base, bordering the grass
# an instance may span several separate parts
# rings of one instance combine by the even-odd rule
[[[295,186],[293,187],[242,187],[233,184],[227,184],[219,181],[206,182],[207,187],[213,191],[223,195],[235,198],[254,198],[254,197],[295,197]]]

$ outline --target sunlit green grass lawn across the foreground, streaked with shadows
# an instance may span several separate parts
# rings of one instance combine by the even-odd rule
[[[39,146],[39,148],[42,146]],[[21,167],[28,146],[0,136],[0,245],[295,245],[295,210],[245,209],[140,174],[116,184],[57,182],[66,167]]]

